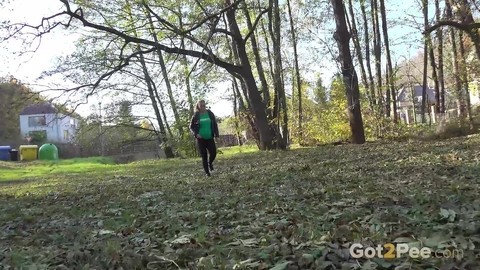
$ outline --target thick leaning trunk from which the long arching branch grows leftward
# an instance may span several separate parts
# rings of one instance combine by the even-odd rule
[[[225,4],[230,6],[232,4],[231,0],[225,0]],[[247,50],[245,48],[245,41],[238,27],[237,20],[235,18],[235,9],[231,8],[226,12],[228,24],[230,26],[230,31],[232,34],[234,50],[237,51],[238,57],[241,63],[241,77],[245,82],[245,85],[248,90],[248,100],[252,106],[252,110],[255,115],[255,126],[258,129],[259,138],[260,138],[260,149],[269,150],[274,148],[274,138],[271,132],[271,128],[267,119],[267,112],[265,104],[263,104],[262,96],[258,91],[258,87],[255,82],[255,77],[252,73],[252,66],[248,59]]]

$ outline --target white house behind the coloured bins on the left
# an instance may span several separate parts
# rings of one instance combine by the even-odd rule
[[[50,103],[27,106],[20,113],[22,136],[37,135],[52,143],[71,142],[75,137],[78,124],[78,119],[59,113]]]

